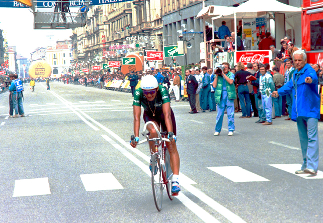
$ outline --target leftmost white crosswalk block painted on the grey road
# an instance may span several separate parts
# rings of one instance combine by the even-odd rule
[[[14,184],[12,197],[35,196],[45,194],[51,194],[47,177],[16,180]]]

